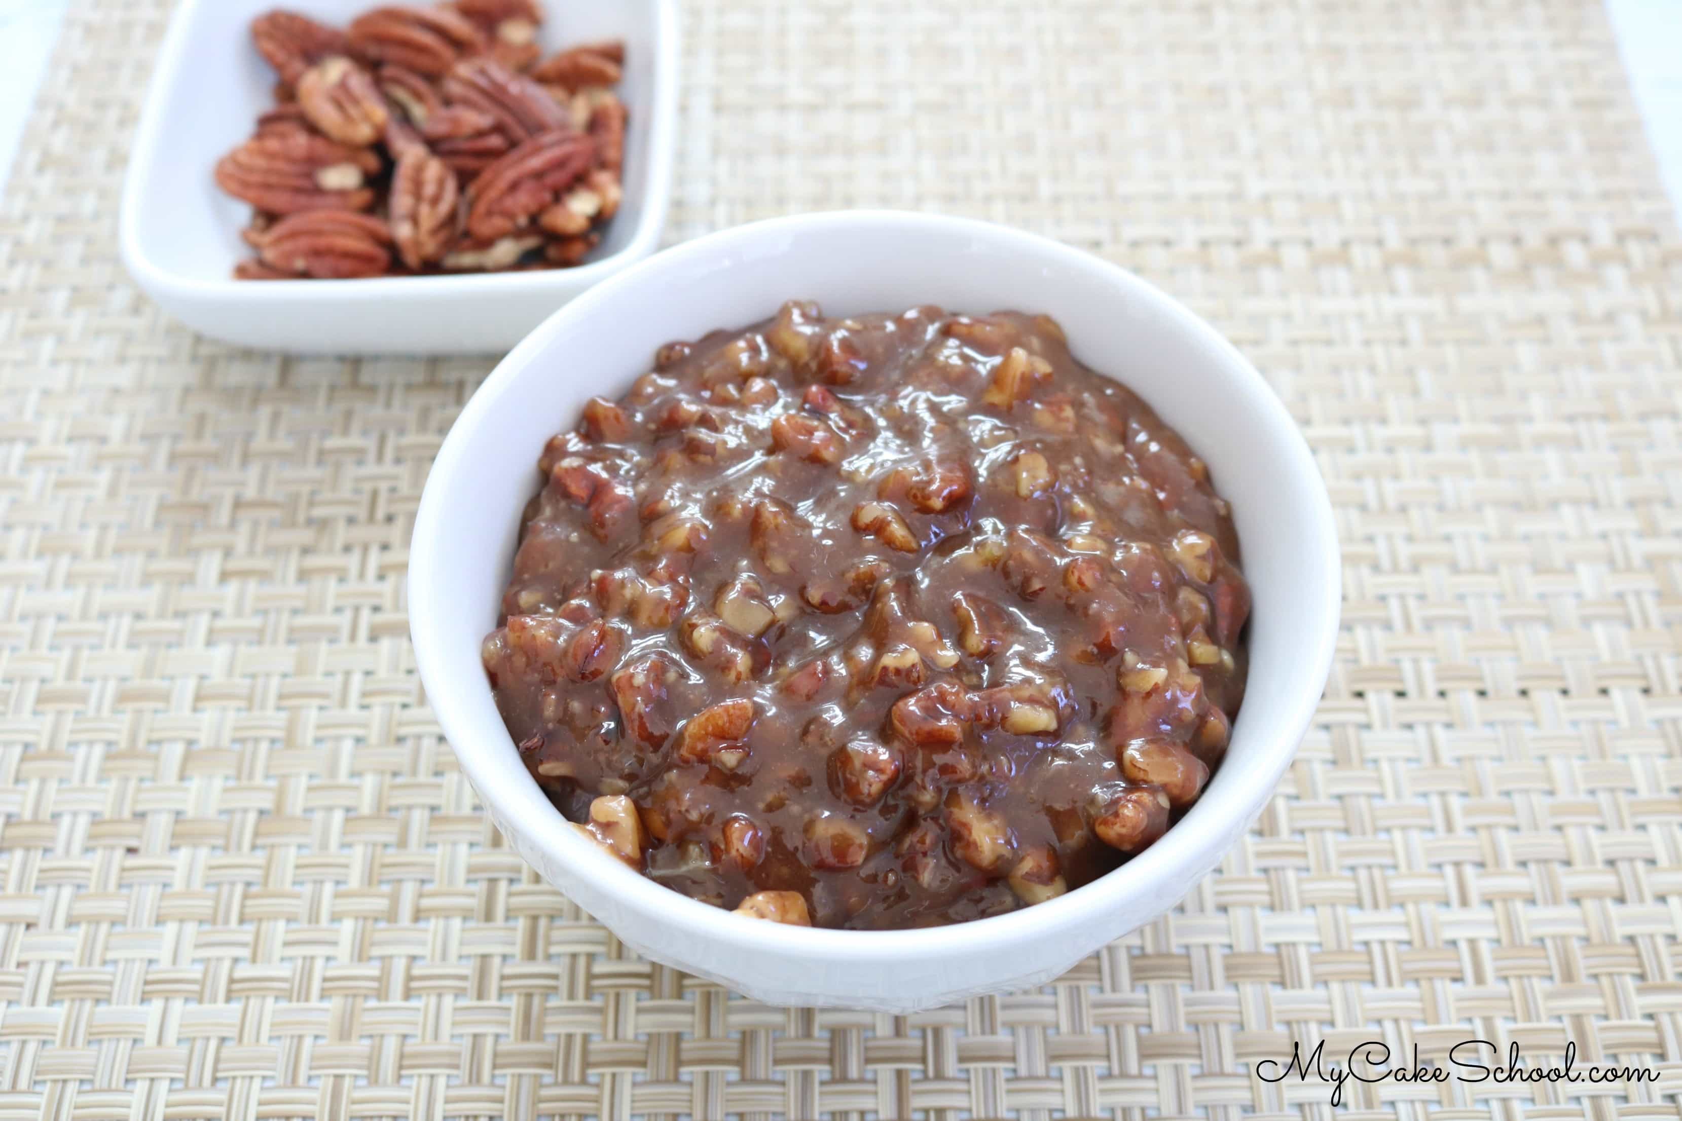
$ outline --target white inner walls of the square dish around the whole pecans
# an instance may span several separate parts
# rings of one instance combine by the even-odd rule
[[[156,269],[178,281],[224,282],[234,264],[251,255],[239,239],[251,207],[215,185],[215,161],[251,136],[261,113],[274,106],[274,71],[251,44],[252,17],[272,0],[185,0],[178,64],[160,69],[158,129],[148,151],[136,151],[135,237]],[[288,0],[284,5],[345,27],[377,0]],[[626,133],[624,202],[592,252],[592,261],[624,249],[643,222],[649,195],[649,129],[654,104],[656,0],[550,3],[540,29],[545,50],[595,39],[626,40],[626,74],[619,96],[631,109]],[[168,66],[168,57],[160,67]],[[409,282],[426,282],[415,279]]]

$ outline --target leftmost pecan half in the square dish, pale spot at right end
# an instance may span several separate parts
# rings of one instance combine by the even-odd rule
[[[346,148],[301,128],[252,136],[215,165],[215,182],[257,210],[367,210],[373,205],[368,176],[380,158],[367,148]]]

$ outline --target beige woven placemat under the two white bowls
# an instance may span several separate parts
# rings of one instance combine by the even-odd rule
[[[686,8],[671,240],[873,203],[1092,249],[1255,358],[1337,506],[1337,664],[1248,840],[913,1017],[636,960],[486,827],[402,576],[489,361],[235,351],[131,287],[165,7],[72,12],[0,212],[0,1121],[1324,1118],[1251,1064],[1470,1037],[1663,1079],[1344,1116],[1677,1116],[1682,244],[1598,3]]]

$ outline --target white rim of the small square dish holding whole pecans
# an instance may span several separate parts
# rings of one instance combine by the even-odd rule
[[[372,2],[372,0],[370,0]],[[383,303],[404,296],[451,294],[463,286],[474,294],[495,296],[510,291],[548,291],[557,296],[606,281],[629,264],[646,259],[658,245],[671,207],[671,168],[674,161],[678,118],[678,67],[681,55],[681,22],[678,0],[649,0],[654,12],[654,64],[649,67],[651,92],[648,108],[648,170],[643,176],[644,205],[637,224],[616,252],[570,269],[528,269],[523,272],[447,272],[439,276],[380,276],[363,279],[293,279],[293,281],[235,281],[232,276],[204,279],[167,269],[153,261],[141,244],[141,207],[145,185],[151,180],[151,165],[161,156],[165,133],[165,101],[168,92],[183,81],[190,67],[187,54],[193,44],[198,12],[217,0],[182,0],[170,17],[163,44],[158,47],[146,97],[141,103],[140,123],[128,153],[123,173],[123,195],[118,200],[118,254],[135,282],[146,292],[163,292],[170,297],[190,297],[207,306],[249,304],[315,304],[333,303]],[[209,173],[209,168],[205,170]]]

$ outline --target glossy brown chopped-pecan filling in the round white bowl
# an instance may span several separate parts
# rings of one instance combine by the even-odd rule
[[[1208,469],[1019,313],[673,343],[553,437],[484,666],[557,808],[686,896],[1041,903],[1203,792],[1250,593]]]

